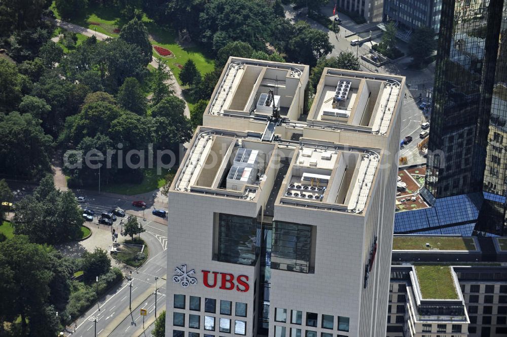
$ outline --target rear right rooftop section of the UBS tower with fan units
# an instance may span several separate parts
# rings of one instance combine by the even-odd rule
[[[324,68],[307,121],[385,134],[402,92],[398,80]]]

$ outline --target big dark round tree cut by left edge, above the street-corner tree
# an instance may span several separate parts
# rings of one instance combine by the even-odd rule
[[[31,178],[50,170],[53,139],[30,114],[0,114],[0,173]]]

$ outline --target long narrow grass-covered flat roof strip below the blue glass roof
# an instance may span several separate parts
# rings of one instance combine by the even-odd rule
[[[426,247],[429,243],[430,247]],[[393,250],[476,250],[474,239],[441,236],[397,236],[392,240]]]

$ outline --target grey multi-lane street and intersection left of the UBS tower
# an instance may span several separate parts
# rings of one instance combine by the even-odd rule
[[[68,331],[74,331],[74,336],[87,337],[95,336],[95,321],[97,336],[126,336],[139,335],[142,333],[142,317],[140,309],[147,309],[145,321],[151,322],[155,319],[155,287],[159,288],[157,294],[157,314],[165,308],[165,279],[167,274],[167,226],[153,220],[143,220],[142,211],[132,206],[130,200],[110,198],[105,196],[88,197],[85,191],[79,196],[84,196],[87,202],[82,203],[83,208],[93,209],[97,215],[102,211],[111,210],[114,207],[120,207],[127,213],[136,213],[139,216],[139,222],[142,223],[146,232],[141,233],[140,237],[148,244],[148,261],[138,268],[130,267],[131,273],[127,272],[127,279],[121,285],[111,290],[105,297],[100,298],[97,305],[89,309],[85,315],[80,317],[74,326],[70,326]],[[145,210],[151,214],[151,208]],[[167,210],[167,209],[165,209]],[[113,226],[117,231],[121,231],[120,219],[114,222]],[[94,218],[96,222],[96,216]],[[118,239],[121,239],[120,236]],[[155,278],[158,278],[156,281]],[[132,287],[129,286],[129,279],[132,280]],[[130,289],[132,289],[132,311],[129,309]],[[99,310],[100,308],[100,310]],[[160,310],[159,310],[160,308]],[[149,323],[145,324],[146,328]],[[147,336],[150,335],[147,332]]]

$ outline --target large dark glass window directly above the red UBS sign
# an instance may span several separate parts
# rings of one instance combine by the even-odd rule
[[[218,260],[239,265],[255,265],[261,236],[257,218],[223,214],[219,216]]]

